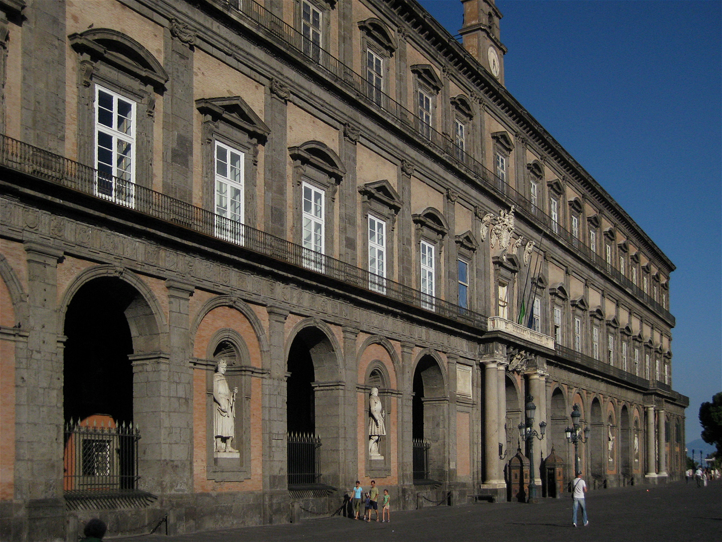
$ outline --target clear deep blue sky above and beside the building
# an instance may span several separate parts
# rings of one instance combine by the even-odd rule
[[[422,0],[452,35],[459,0]],[[722,2],[497,0],[505,84],[677,266],[674,390],[722,390]]]

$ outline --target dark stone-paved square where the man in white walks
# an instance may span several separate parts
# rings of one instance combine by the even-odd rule
[[[572,499],[539,504],[461,504],[391,512],[391,523],[346,517],[206,531],[182,536],[124,537],[123,541],[722,541],[722,482],[697,488],[601,489],[587,494],[588,527],[574,528]]]

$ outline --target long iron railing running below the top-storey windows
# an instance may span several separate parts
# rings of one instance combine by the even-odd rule
[[[547,236],[562,241],[563,244],[567,245],[567,248],[570,248],[585,258],[588,263],[591,263],[597,271],[617,281],[630,294],[635,295],[645,305],[657,312],[661,318],[667,320],[672,326],[675,325],[674,316],[671,315],[669,310],[666,310],[653,297],[620,273],[617,268],[606,263],[604,258],[562,227],[562,224],[554,221],[552,217],[532,204],[526,196],[508,185],[505,180],[500,179],[495,172],[484,167],[471,154],[458,147],[449,136],[436,131],[433,126],[422,121],[418,115],[393,100],[392,97],[383,93],[378,87],[371,85],[365,77],[357,74],[325,49],[312,43],[301,32],[298,32],[294,27],[269,12],[264,6],[261,6],[255,0],[214,0],[214,3],[229,6],[238,14],[243,15],[244,20],[250,23],[254,30],[261,35],[265,35],[266,38],[274,42],[280,41],[293,53],[303,55],[308,60],[313,61],[316,67],[321,67],[323,71],[331,76],[334,82],[351,90],[359,100],[365,102],[370,108],[380,109],[383,118],[391,117],[399,123],[399,127],[403,128],[404,131],[409,129],[414,131],[417,137],[423,141],[425,147],[455,163],[466,175],[470,175],[477,183],[490,189],[503,200],[514,204],[518,211],[526,214],[530,219],[533,217],[544,228]]]

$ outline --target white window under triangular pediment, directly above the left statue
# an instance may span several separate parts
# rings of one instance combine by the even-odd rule
[[[241,242],[243,224],[243,153],[216,141],[215,208],[224,219],[216,220],[216,235]]]

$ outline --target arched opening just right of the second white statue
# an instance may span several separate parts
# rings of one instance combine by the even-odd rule
[[[417,363],[412,400],[414,480],[445,481],[448,398],[441,367],[430,354]]]

